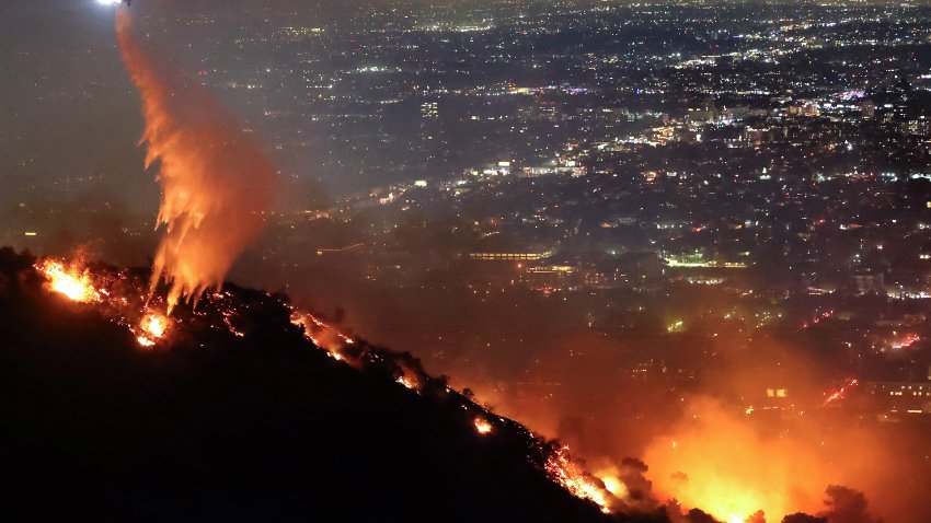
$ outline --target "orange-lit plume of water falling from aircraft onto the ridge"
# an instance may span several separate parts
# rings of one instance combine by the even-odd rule
[[[238,123],[196,82],[172,74],[141,48],[127,10],[116,20],[126,69],[142,97],[147,168],[158,161],[162,202],[151,289],[170,284],[169,310],[219,288],[258,233],[275,168]]]

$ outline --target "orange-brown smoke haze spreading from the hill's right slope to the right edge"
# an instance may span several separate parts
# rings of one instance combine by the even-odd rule
[[[479,402],[567,443],[606,484],[633,490],[620,472],[625,457],[643,460],[643,475],[652,481],[652,489],[643,489],[652,498],[647,505],[675,499],[683,511],[699,508],[724,521],[763,510],[767,521],[778,522],[798,511],[825,511],[826,489],[843,485],[863,491],[876,516],[927,521],[920,499],[928,475],[915,461],[926,454],[918,450],[920,431],[823,407],[824,393],[840,382],[836,357],[811,355],[798,340],[744,341],[727,332],[713,342],[690,335],[579,334],[559,322],[571,316],[573,304],[366,292],[332,274],[291,281],[289,291],[315,295],[311,301],[322,309],[329,309],[326,299],[338,300],[344,324],[356,332],[414,351],[428,371],[450,375],[453,386],[472,390]],[[365,299],[353,300],[354,293]],[[528,310],[518,312],[522,307]],[[521,327],[528,316],[547,327]],[[455,318],[481,342],[470,344],[442,318]],[[495,344],[499,350],[485,347],[495,336],[508,338]],[[447,338],[456,342],[445,344]],[[566,358],[568,351],[575,356]],[[669,371],[631,376],[642,352]],[[703,353],[715,356],[704,357],[708,363],[693,379],[676,376],[681,362]],[[775,402],[766,397],[767,387],[788,390],[784,399],[796,408],[766,410]],[[756,410],[747,414],[751,406]],[[843,521],[838,518],[829,521]]]

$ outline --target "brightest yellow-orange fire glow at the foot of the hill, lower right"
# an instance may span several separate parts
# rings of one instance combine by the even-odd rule
[[[825,487],[840,480],[805,437],[761,433],[742,412],[710,398],[697,399],[692,412],[644,455],[648,478],[666,499],[728,523],[760,510],[780,521],[798,511],[816,513]]]

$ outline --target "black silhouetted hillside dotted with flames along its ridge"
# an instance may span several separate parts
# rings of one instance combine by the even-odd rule
[[[37,513],[599,521],[624,507],[566,449],[284,297],[229,286],[165,317],[147,270],[0,258],[0,419],[15,429],[0,448],[22,479],[11,499],[61,501]]]

